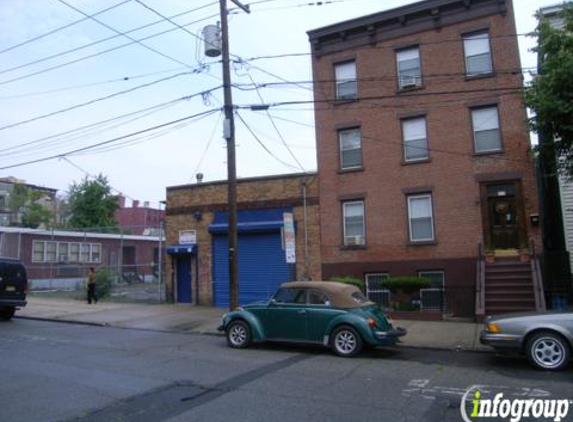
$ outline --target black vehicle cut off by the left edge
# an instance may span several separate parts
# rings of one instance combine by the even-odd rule
[[[26,306],[28,278],[17,259],[0,258],[0,319],[11,319],[16,309]]]

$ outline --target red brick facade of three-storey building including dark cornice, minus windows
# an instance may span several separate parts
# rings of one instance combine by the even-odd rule
[[[462,36],[489,34],[493,72],[468,77]],[[524,234],[540,245],[534,164],[510,0],[429,0],[309,32],[313,51],[323,276],[445,271],[475,283],[478,244],[488,247],[487,183],[515,183]],[[398,88],[397,52],[419,49],[422,84]],[[357,99],[335,98],[334,66],[356,63]],[[497,106],[502,149],[474,150],[472,112]],[[429,158],[406,163],[401,120],[424,116]],[[340,165],[338,131],[361,130],[362,166]],[[434,241],[409,240],[407,197],[431,193]],[[366,243],[344,246],[342,202],[364,201]]]

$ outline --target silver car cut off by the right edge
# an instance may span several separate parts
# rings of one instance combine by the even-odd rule
[[[537,368],[558,371],[571,359],[573,312],[523,312],[486,320],[482,344],[526,354]]]

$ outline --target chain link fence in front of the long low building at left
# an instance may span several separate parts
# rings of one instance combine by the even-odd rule
[[[109,274],[110,300],[165,302],[163,231],[160,227],[136,231],[138,228],[0,227],[0,256],[24,263],[33,295],[84,299],[87,272],[94,268]]]

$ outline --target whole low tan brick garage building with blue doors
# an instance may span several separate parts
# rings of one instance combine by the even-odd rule
[[[237,183],[239,301],[264,300],[289,280],[321,278],[316,174]],[[284,214],[292,213],[296,264],[285,255]],[[227,182],[167,188],[168,295],[226,307],[229,301]]]

